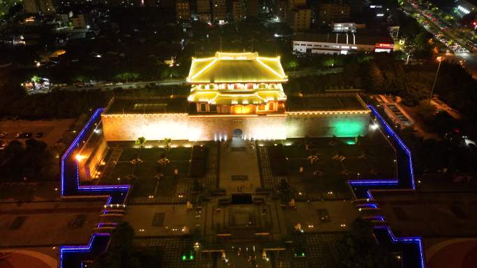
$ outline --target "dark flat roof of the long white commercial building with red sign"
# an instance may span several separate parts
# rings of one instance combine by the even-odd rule
[[[363,33],[296,33],[293,40],[348,45],[376,45],[377,43],[393,44],[391,36]]]

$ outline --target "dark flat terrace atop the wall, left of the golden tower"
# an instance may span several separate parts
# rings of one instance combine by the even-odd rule
[[[112,100],[105,114],[122,113],[187,113],[186,98],[177,99],[129,99],[116,98]]]

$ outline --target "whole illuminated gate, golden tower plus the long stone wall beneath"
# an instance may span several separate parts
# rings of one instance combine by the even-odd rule
[[[217,52],[192,58],[187,81],[187,99],[114,99],[102,115],[105,139],[217,141],[368,132],[370,110],[355,93],[287,97],[280,57]]]

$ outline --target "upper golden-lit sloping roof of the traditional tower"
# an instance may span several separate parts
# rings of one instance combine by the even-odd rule
[[[257,52],[215,53],[211,58],[192,58],[187,81],[206,83],[285,82],[280,57],[265,58]]]

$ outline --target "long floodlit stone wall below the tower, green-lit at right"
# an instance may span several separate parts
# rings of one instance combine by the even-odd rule
[[[232,139],[240,129],[244,139],[286,139],[304,136],[357,136],[368,132],[369,113],[343,115],[188,116],[103,115],[107,141],[213,141]],[[239,131],[238,131],[239,132]]]

